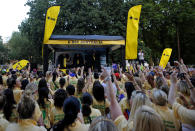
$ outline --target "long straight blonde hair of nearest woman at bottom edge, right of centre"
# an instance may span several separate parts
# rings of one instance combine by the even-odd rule
[[[134,131],[165,131],[160,116],[148,106],[140,107],[135,113]]]

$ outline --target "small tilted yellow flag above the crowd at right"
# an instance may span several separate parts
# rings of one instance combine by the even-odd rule
[[[160,64],[159,64],[159,66],[163,67],[163,69],[167,66],[167,63],[169,62],[169,58],[171,57],[171,52],[172,52],[171,48],[166,48],[163,51]]]

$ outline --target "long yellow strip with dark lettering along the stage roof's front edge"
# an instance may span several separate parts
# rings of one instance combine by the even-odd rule
[[[63,45],[125,45],[125,40],[49,40],[45,44]]]

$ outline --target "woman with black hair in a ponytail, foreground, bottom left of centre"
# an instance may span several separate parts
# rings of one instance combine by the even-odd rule
[[[82,122],[79,117],[80,102],[77,98],[70,96],[64,101],[63,111],[64,118],[53,126],[52,131],[87,131],[89,125]]]

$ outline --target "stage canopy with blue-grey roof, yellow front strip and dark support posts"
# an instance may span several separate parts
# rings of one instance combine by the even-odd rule
[[[44,43],[44,72],[48,70],[48,48],[54,51],[54,56],[57,52],[65,51],[98,51],[108,56],[108,52],[120,48],[121,60],[124,62],[124,47],[125,39],[122,36],[52,35],[50,39]],[[108,61],[108,57],[106,57],[106,61]]]

